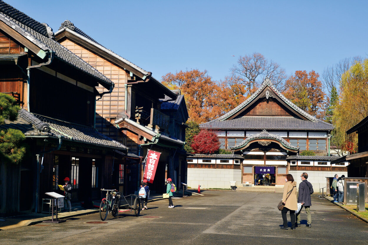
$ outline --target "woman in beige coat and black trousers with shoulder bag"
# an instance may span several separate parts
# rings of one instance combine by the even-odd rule
[[[281,211],[282,220],[284,221],[281,229],[289,230],[287,227],[287,211],[290,211],[290,219],[291,219],[291,230],[295,230],[295,210],[298,209],[297,205],[297,182],[294,181],[293,175],[287,174],[285,177],[285,185],[284,185],[284,195],[282,196],[282,200],[284,203],[284,208]],[[288,197],[289,196],[289,197]]]

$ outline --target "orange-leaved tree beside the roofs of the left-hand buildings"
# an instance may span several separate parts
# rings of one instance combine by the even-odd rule
[[[190,121],[204,123],[224,114],[224,110],[219,106],[221,89],[216,81],[212,81],[206,70],[193,69],[175,74],[170,72],[162,76],[162,84],[181,90],[187,103]]]

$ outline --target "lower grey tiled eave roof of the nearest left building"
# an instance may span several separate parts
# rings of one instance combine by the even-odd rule
[[[123,144],[100,134],[95,128],[67,123],[35,114],[21,109],[18,119],[10,122],[6,120],[0,128],[14,128],[21,130],[25,136],[64,136],[64,140],[93,144],[115,149],[127,149]]]

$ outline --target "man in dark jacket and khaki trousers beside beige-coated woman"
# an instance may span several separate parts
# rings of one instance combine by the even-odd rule
[[[307,213],[307,227],[312,227],[312,216],[310,206],[312,206],[311,194],[313,194],[313,187],[310,182],[307,181],[308,174],[302,173],[300,179],[302,182],[299,184],[299,195],[298,195],[298,203],[301,203],[305,212]],[[301,209],[300,209],[301,211]],[[300,211],[296,215],[297,226],[300,226]]]

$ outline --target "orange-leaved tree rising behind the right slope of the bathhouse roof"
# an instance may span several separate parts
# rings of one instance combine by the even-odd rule
[[[308,114],[323,118],[326,94],[322,90],[322,82],[315,71],[296,71],[287,79],[284,96]]]

